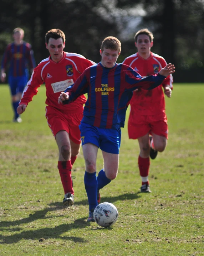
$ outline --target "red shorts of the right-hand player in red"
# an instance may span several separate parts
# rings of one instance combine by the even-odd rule
[[[129,139],[137,139],[147,133],[152,134],[152,132],[168,139],[168,124],[165,112],[149,116],[133,115],[130,111],[128,120]]]

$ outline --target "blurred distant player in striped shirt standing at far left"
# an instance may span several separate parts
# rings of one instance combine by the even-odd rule
[[[29,43],[23,41],[24,30],[15,28],[13,31],[14,42],[7,45],[1,61],[1,82],[6,80],[6,68],[8,67],[8,83],[12,96],[12,107],[14,110],[14,122],[22,122],[17,107],[21,99],[22,92],[29,80],[29,70],[32,73],[35,68],[35,59],[32,47]]]

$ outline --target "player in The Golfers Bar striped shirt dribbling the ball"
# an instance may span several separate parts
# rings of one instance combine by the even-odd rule
[[[120,52],[121,42],[117,38],[105,38],[100,49],[101,62],[87,68],[58,99],[59,103],[71,103],[88,93],[80,125],[88,221],[94,221],[93,211],[99,203],[97,192],[117,176],[121,127],[124,127],[133,90],[140,87],[151,90],[175,72],[174,65],[168,64],[158,74],[142,79],[131,67],[116,63]],[[96,177],[98,148],[102,150],[104,168]]]

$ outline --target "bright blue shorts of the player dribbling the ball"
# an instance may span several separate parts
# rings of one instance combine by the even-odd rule
[[[107,153],[119,154],[121,145],[121,129],[104,129],[93,125],[81,123],[82,146],[92,143]]]

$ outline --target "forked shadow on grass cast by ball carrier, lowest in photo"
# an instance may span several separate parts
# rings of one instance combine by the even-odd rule
[[[71,224],[61,224],[54,228],[39,228],[38,230],[29,230],[22,231],[21,233],[3,236],[0,235],[0,244],[9,244],[9,243],[17,243],[20,240],[40,240],[39,242],[43,242],[46,239],[57,239],[61,240],[72,240],[73,242],[86,243],[87,241],[81,237],[76,236],[61,236],[62,233],[68,232],[73,229],[85,228],[86,226],[90,226],[90,222],[85,221],[86,218],[76,219]],[[42,241],[41,241],[42,238]]]

